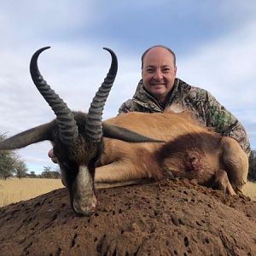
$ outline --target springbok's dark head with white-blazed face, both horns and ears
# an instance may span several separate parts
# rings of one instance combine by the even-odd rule
[[[9,137],[0,143],[0,150],[23,148],[32,143],[50,141],[58,158],[61,177],[67,186],[71,205],[78,214],[89,215],[96,210],[94,186],[96,161],[102,154],[102,137],[112,137],[131,143],[157,142],[152,138],[102,122],[102,110],[113,85],[118,61],[113,50],[111,67],[104,82],[90,104],[89,112],[72,112],[52,90],[38,70],[38,56],[49,47],[38,49],[32,55],[30,73],[45,101],[54,111],[56,119]]]

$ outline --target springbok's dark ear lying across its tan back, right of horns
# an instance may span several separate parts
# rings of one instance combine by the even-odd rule
[[[127,143],[165,143],[165,141],[146,137],[135,131],[105,122],[102,123],[102,130],[104,137],[111,137]]]

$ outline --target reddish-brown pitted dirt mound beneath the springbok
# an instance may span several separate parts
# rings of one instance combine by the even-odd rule
[[[187,180],[98,191],[78,217],[66,189],[0,208],[1,255],[255,255],[256,202]]]

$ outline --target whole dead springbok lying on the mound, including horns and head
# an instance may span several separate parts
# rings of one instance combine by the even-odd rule
[[[95,181],[109,187],[172,175],[196,178],[230,195],[241,192],[247,180],[247,155],[235,140],[198,125],[189,113],[126,113],[102,122],[117,73],[111,49],[111,67],[88,114],[72,112],[43,79],[37,61],[44,49],[32,56],[32,80],[56,119],[10,137],[0,143],[0,150],[52,142],[75,212],[95,211]]]

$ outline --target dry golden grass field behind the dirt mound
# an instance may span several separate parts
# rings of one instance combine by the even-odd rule
[[[24,201],[45,194],[54,189],[63,188],[60,179],[48,178],[9,178],[0,179],[0,207],[17,201]],[[248,182],[244,193],[256,201],[256,183]]]

